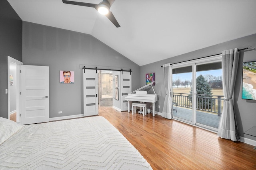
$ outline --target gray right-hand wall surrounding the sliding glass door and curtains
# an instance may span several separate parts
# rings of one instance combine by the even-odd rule
[[[156,108],[156,111],[162,113],[162,107],[164,105],[164,85],[163,85],[163,69],[162,65],[166,63],[177,63],[181,61],[186,61],[189,59],[196,59],[200,57],[205,57],[209,55],[214,55],[221,53],[221,51],[225,49],[234,49],[236,47],[242,49],[245,47],[256,45],[256,34],[242,37],[236,40],[232,40],[225,43],[220,43],[217,45],[213,45],[210,47],[206,47],[203,49],[199,49],[196,51],[192,51],[190,53],[185,53],[182,55],[178,55],[176,57],[172,57],[169,59],[164,59],[155,63],[150,63],[148,65],[143,65],[140,67],[140,85],[145,85],[145,77],[146,73],[155,73],[156,85],[154,89],[158,94],[158,102],[156,106],[160,105],[160,109]],[[157,56],[156,56],[157,57]],[[243,61],[252,61],[256,59],[256,51],[240,51],[240,59],[239,59],[239,68],[237,73],[236,85],[235,85],[235,111],[236,118],[238,123],[238,129],[240,132],[240,136],[246,137],[252,140],[256,140],[255,137],[244,134],[244,131],[256,125],[256,101],[242,100],[241,98],[241,89],[242,89],[242,62]]]

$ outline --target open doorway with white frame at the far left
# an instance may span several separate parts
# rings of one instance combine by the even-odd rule
[[[8,119],[15,122],[20,122],[20,65],[8,56]]]

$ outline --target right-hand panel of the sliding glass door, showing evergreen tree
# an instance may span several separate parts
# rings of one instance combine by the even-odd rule
[[[223,104],[222,62],[196,65],[196,124],[218,129]]]

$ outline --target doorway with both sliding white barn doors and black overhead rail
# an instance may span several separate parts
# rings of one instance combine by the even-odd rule
[[[99,106],[113,107],[120,112],[128,110],[125,97],[132,90],[131,70],[82,68],[84,116],[98,115]]]

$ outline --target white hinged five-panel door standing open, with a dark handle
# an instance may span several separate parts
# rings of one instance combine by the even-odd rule
[[[21,65],[21,124],[49,121],[49,67]]]

